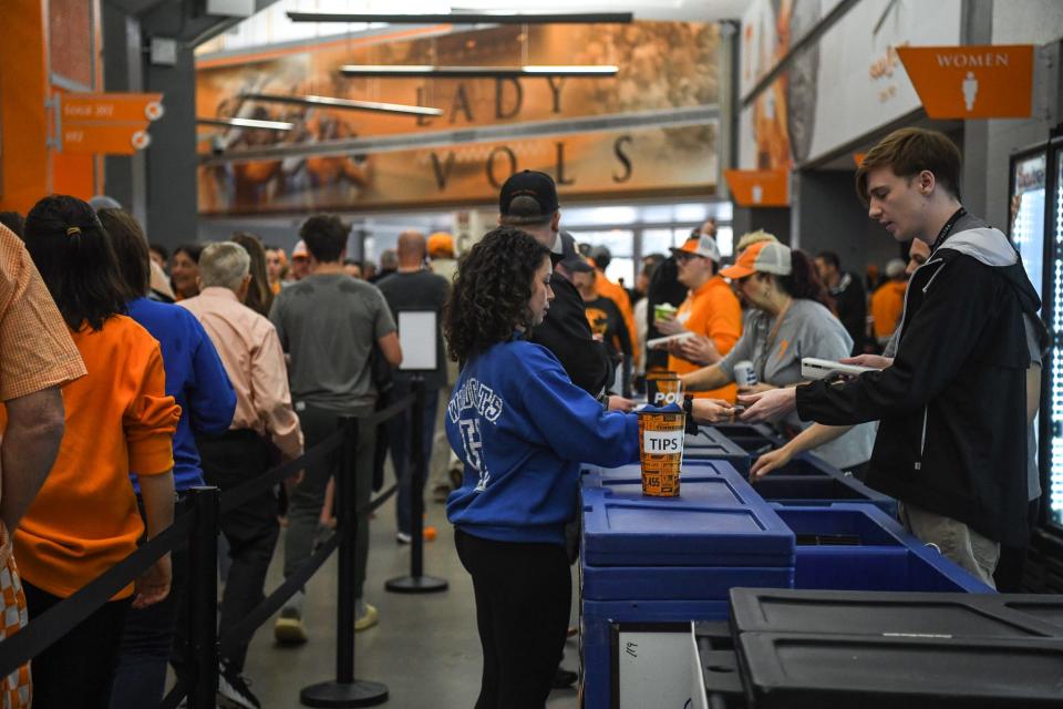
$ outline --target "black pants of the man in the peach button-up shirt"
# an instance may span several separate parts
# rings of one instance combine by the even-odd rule
[[[208,485],[224,493],[261,475],[269,467],[266,440],[247,429],[221,435],[196,436],[203,460],[203,476]],[[277,522],[277,495],[272,489],[260,492],[239,507],[221,513],[221,534],[229,543],[229,576],[221,596],[219,637],[237,625],[265,598],[266,572],[274,558],[280,534]],[[223,643],[226,659],[244,669],[248,641]]]

